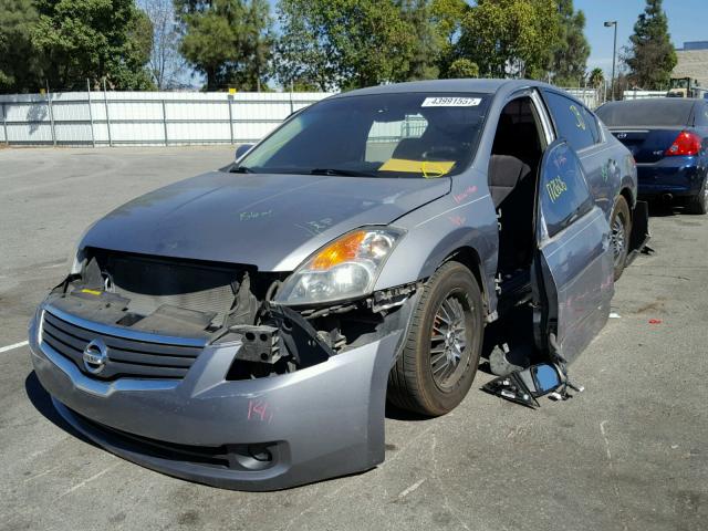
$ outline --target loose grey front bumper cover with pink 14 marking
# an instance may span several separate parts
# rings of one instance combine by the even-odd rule
[[[289,488],[384,460],[387,377],[403,330],[281,376],[226,381],[237,342],[207,345],[181,381],[102,382],[40,340],[43,311],[29,334],[40,382],[65,420],[121,457],[241,490]]]

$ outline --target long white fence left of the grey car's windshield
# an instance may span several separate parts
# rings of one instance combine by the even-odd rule
[[[256,142],[292,112],[329,95],[101,91],[0,95],[0,142],[11,145]]]

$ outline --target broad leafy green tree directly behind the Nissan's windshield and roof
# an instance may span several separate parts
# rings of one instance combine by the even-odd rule
[[[281,0],[279,81],[331,90],[429,75],[427,64],[415,64],[417,35],[406,6],[410,3],[394,0]]]

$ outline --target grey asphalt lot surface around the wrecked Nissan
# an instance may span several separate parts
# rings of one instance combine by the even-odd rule
[[[268,493],[173,479],[69,431],[28,347],[3,347],[27,339],[88,223],[231,154],[0,149],[0,529],[706,529],[708,216],[680,210],[650,219],[657,252],[625,271],[569,402],[501,402],[479,373],[450,415],[391,415],[378,468]]]

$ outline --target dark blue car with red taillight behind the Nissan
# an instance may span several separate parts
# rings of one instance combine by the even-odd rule
[[[676,199],[708,210],[708,101],[648,98],[611,102],[596,111],[634,155],[639,196]]]

